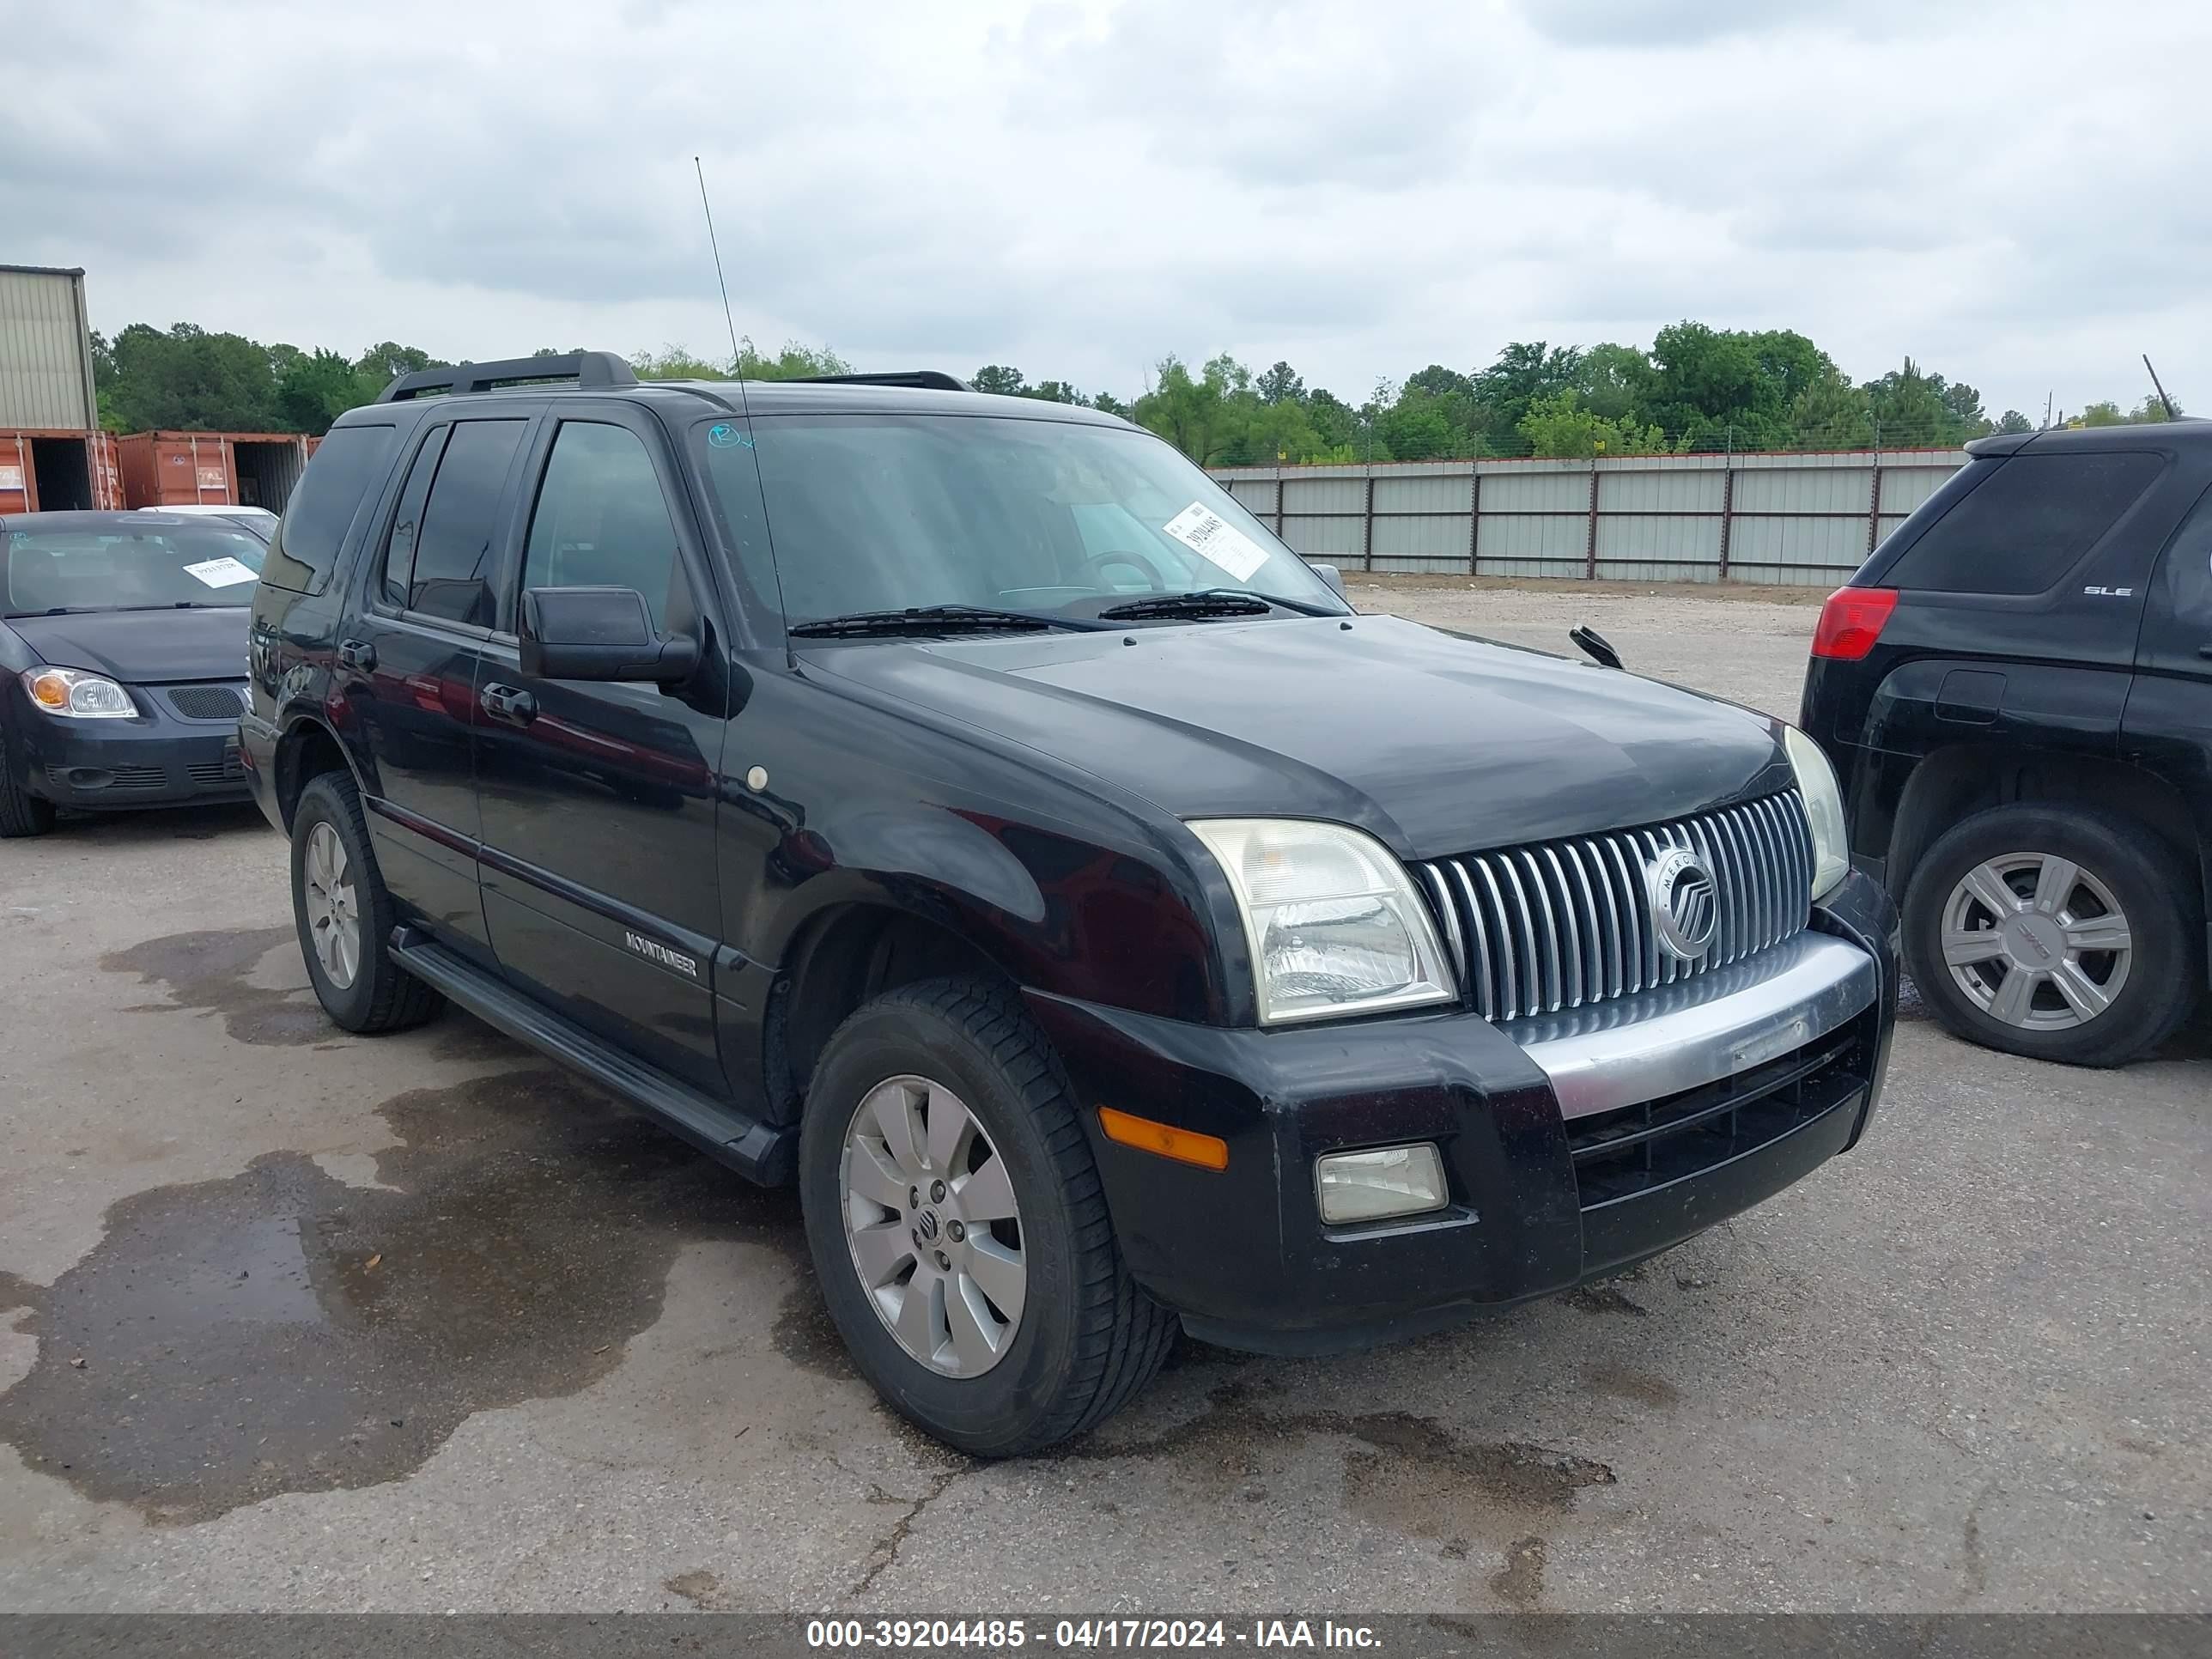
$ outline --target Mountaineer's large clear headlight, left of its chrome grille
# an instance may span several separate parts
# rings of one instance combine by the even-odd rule
[[[1190,830],[1237,889],[1261,1024],[1455,995],[1429,907],[1374,836],[1292,818],[1210,818]]]

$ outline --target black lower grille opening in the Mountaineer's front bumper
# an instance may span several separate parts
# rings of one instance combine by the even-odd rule
[[[1843,1031],[1679,1095],[1566,1119],[1582,1208],[1632,1199],[1754,1152],[1840,1106],[1867,1079]]]

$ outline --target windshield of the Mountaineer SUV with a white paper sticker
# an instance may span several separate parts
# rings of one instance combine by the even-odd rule
[[[1095,617],[1155,593],[1343,602],[1228,491],[1141,431],[975,416],[763,416],[695,442],[792,626],[920,606]],[[759,482],[754,482],[759,467]],[[761,502],[774,568],[757,555]]]

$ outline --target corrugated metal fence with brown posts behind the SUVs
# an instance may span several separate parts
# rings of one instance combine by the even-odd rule
[[[1217,467],[1298,553],[1360,571],[1836,584],[1962,449]]]

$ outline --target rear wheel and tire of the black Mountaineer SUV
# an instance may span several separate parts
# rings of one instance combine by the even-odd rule
[[[332,905],[332,894],[343,898]],[[398,911],[376,869],[361,794],[345,772],[323,772],[292,810],[292,920],[314,995],[347,1031],[405,1031],[445,1006],[422,980],[392,958]],[[332,945],[332,929],[352,925],[352,949]]]

